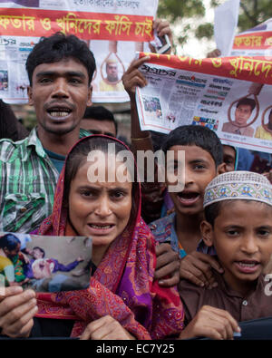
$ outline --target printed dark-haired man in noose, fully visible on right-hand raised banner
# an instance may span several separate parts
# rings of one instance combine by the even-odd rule
[[[242,98],[238,101],[234,121],[223,124],[222,131],[227,131],[232,134],[239,134],[246,137],[253,137],[254,129],[247,126],[247,122],[251,117],[252,111],[256,107],[255,100],[251,98]]]

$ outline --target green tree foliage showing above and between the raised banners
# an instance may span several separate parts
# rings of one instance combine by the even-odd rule
[[[210,0],[210,6],[215,7],[227,0]],[[170,24],[180,24],[182,20],[193,18],[201,20],[205,15],[204,1],[202,0],[160,0],[158,16],[167,18]],[[261,24],[272,17],[271,0],[240,0],[240,12],[238,18],[238,32],[248,30]],[[193,25],[185,24],[182,28],[178,42],[183,44],[188,39],[189,30]],[[202,23],[193,30],[197,38],[211,38],[213,36],[213,24]]]

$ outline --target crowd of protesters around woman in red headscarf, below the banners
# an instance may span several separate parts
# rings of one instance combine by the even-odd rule
[[[171,40],[168,22],[154,26]],[[245,336],[244,321],[272,315],[270,181],[237,170],[240,150],[206,127],[141,131],[135,91],[147,84],[138,69],[148,60],[134,60],[122,76],[130,147],[116,138],[112,112],[92,105],[95,59],[74,35],[44,37],[27,58],[31,132],[1,102],[9,114],[0,123],[0,231],[92,237],[89,287],[53,294],[23,290],[27,277],[11,277],[9,266],[24,256],[0,237],[0,274],[10,282],[0,295],[1,337],[233,339]],[[184,189],[160,182],[157,163],[154,182],[140,183],[136,160],[120,161],[156,146],[174,153],[166,163],[174,170],[185,152]],[[103,180],[90,174],[94,152]]]

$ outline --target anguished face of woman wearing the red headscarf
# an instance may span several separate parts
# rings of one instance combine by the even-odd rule
[[[92,237],[93,248],[102,247],[105,252],[129,222],[132,183],[128,180],[121,182],[115,178],[120,163],[115,162],[114,168],[112,161],[110,168],[104,165],[103,169],[105,178],[115,178],[115,181],[93,183],[88,179],[91,165],[85,160],[71,182],[69,219],[78,235]],[[103,166],[102,160],[99,165]],[[95,255],[95,252],[93,254]]]

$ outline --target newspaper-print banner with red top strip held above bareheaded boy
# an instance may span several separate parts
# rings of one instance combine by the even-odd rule
[[[148,85],[136,90],[142,131],[202,125],[224,144],[272,153],[272,57],[149,55]]]

